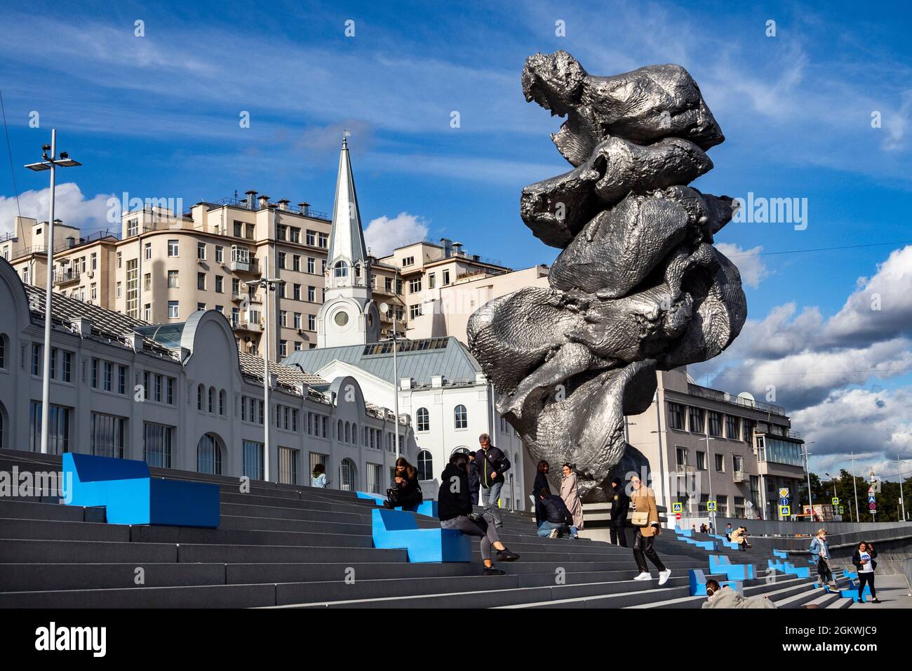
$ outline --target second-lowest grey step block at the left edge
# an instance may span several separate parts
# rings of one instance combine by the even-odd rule
[[[45,592],[47,590],[94,590],[101,588],[171,587],[225,583],[225,565],[157,564],[143,562],[142,585],[136,563],[107,564],[3,564],[0,592]]]

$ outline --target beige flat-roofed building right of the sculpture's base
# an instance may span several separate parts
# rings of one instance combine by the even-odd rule
[[[685,516],[705,516],[714,500],[720,517],[781,519],[782,488],[798,508],[803,440],[779,405],[702,387],[684,368],[659,372],[656,401],[628,417],[627,434],[669,510],[679,502]]]

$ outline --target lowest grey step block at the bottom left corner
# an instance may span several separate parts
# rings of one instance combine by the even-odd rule
[[[0,593],[0,608],[256,608],[273,604],[273,584]]]

